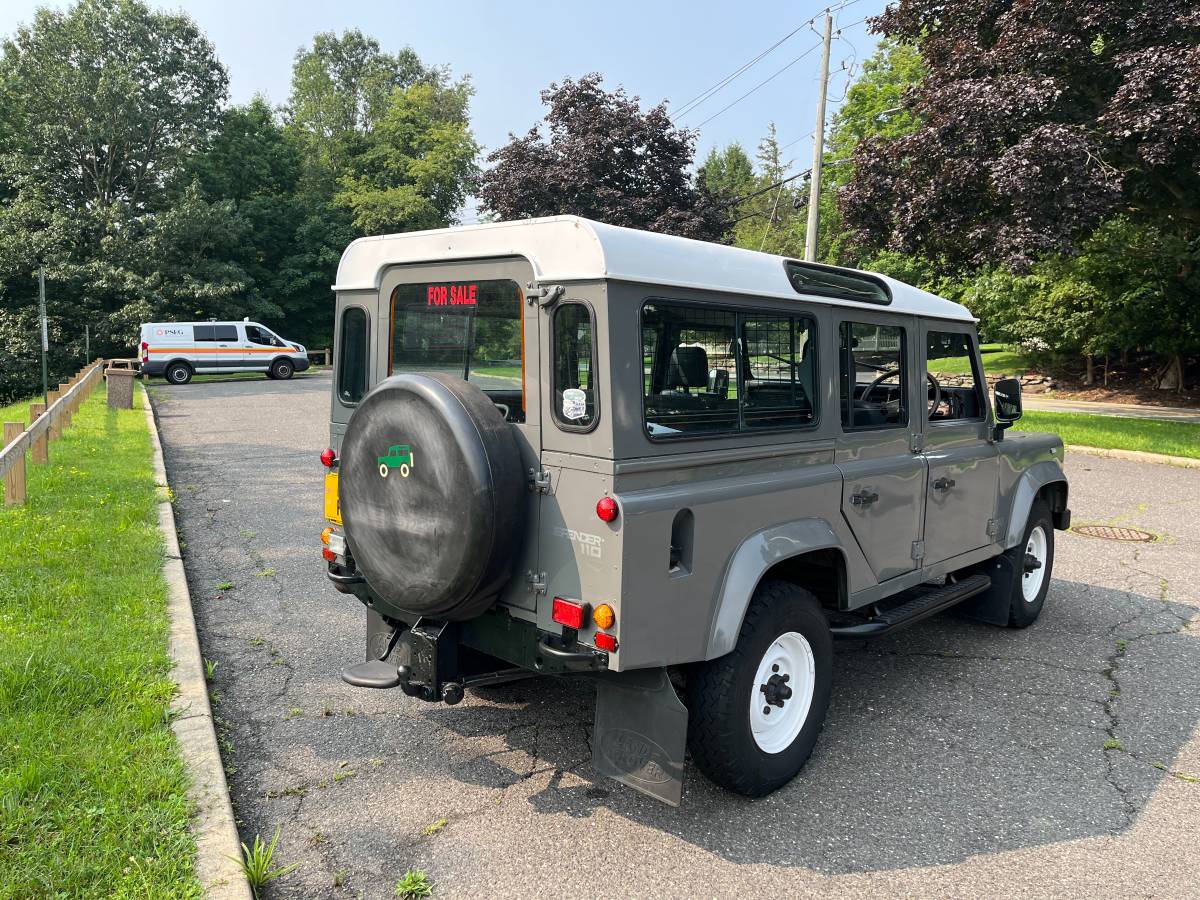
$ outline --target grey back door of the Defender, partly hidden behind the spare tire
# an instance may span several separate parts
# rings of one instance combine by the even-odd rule
[[[539,395],[540,322],[538,304],[527,304],[523,284],[534,281],[523,259],[431,263],[389,270],[380,284],[379,348],[382,377],[442,372],[466,378],[496,404],[512,428],[524,470],[541,468]],[[380,371],[382,370],[382,371]],[[526,540],[515,577],[500,602],[534,618],[538,594],[526,572],[536,576],[539,497],[526,492]]]

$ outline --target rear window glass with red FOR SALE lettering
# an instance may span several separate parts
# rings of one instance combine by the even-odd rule
[[[522,385],[521,288],[515,281],[401,284],[391,295],[391,373],[443,372],[481,390]]]

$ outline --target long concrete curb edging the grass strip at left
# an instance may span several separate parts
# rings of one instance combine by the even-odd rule
[[[162,458],[162,442],[155,421],[150,391],[142,391],[150,439],[154,444],[154,474],[158,486],[158,529],[166,544],[167,558],[162,574],[167,580],[168,613],[170,616],[170,658],[175,666],[172,676],[179,692],[172,701],[172,730],[187,766],[188,798],[196,808],[192,836],[196,839],[196,876],[212,900],[253,900],[250,882],[238,860],[241,845],[238,826],[229,803],[221,751],[217,748],[209,686],[204,679],[204,660],[192,616],[192,596],[179,552],[175,533],[175,511],[169,500],[167,467]]]

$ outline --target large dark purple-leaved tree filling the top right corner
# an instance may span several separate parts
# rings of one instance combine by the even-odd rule
[[[917,127],[854,151],[840,199],[859,245],[1034,272],[1046,317],[1070,323],[1052,340],[1090,355],[1142,335],[1168,356],[1160,384],[1180,385],[1200,331],[1194,5],[900,0],[875,26],[926,74],[902,101]],[[1114,318],[1115,298],[1135,316]]]

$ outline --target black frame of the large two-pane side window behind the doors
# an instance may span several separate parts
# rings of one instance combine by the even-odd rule
[[[738,421],[737,425],[727,431],[706,431],[688,433],[682,432],[679,434],[652,434],[649,430],[649,422],[646,418],[646,373],[643,371],[644,362],[642,360],[642,329],[644,328],[644,317],[647,306],[676,306],[683,308],[698,308],[698,310],[715,310],[719,312],[731,313],[733,316],[733,341],[736,343],[736,383],[738,389]],[[814,391],[809,397],[809,402],[812,404],[812,421],[804,425],[778,425],[773,427],[748,427],[745,424],[743,397],[743,386],[745,384],[744,360],[745,346],[743,341],[743,328],[744,320],[746,318],[756,316],[774,316],[776,318],[791,318],[799,319],[809,323],[809,340],[805,347],[811,347],[812,353],[812,373],[814,373]],[[637,311],[637,342],[638,348],[637,359],[640,361],[637,370],[638,390],[642,396],[642,433],[647,439],[654,443],[674,443],[678,440],[714,440],[725,438],[737,438],[737,437],[754,437],[756,434],[780,434],[791,432],[808,432],[815,431],[821,427],[822,416],[822,403],[821,403],[821,340],[820,340],[820,323],[817,317],[810,312],[805,311],[791,311],[780,310],[770,306],[743,306],[740,304],[721,304],[710,301],[696,301],[696,300],[679,300],[665,296],[648,296],[642,301],[642,305]]]

